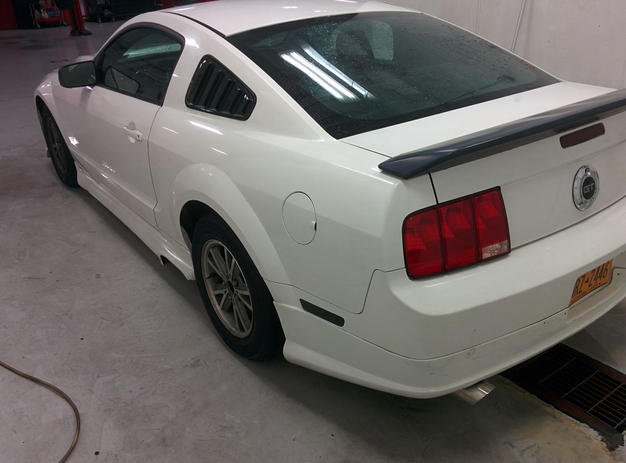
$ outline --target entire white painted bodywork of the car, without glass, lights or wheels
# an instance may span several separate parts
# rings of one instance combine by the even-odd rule
[[[288,360],[409,397],[446,394],[496,374],[584,328],[626,296],[626,200],[620,200],[626,194],[626,113],[603,120],[606,135],[568,150],[555,150],[553,136],[409,180],[378,168],[389,156],[610,89],[552,84],[336,140],[257,64],[200,23],[229,35],[327,14],[405,9],[374,1],[284,6],[221,0],[124,24],[121,29],[153,22],[185,38],[162,106],[98,86],[62,88],[56,73],[36,90],[66,140],[79,141],[68,147],[80,185],[153,252],[194,278],[181,211],[189,201],[207,205],[240,238],[267,283]],[[190,79],[206,54],[254,91],[257,104],[248,120],[186,106]],[[106,130],[99,133],[96,118],[108,121]],[[133,121],[141,142],[123,130]],[[573,175],[583,163],[602,177],[598,202],[587,211],[572,201]],[[410,280],[404,218],[493,186],[503,193],[513,252]],[[303,221],[297,234],[313,236],[305,245],[290,236],[283,212],[287,198],[300,192],[314,210],[315,223],[309,210],[293,213]],[[314,227],[310,235],[307,227]],[[610,258],[612,282],[568,307],[577,277]],[[305,312],[301,299],[339,315],[344,325]]]

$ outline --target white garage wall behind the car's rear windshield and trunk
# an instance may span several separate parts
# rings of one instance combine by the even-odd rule
[[[523,0],[391,0],[511,49]],[[626,0],[526,0],[516,54],[560,79],[626,87]]]

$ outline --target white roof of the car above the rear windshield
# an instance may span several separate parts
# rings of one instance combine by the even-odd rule
[[[375,0],[215,0],[161,11],[177,13],[230,36],[298,19],[370,11],[412,11]]]

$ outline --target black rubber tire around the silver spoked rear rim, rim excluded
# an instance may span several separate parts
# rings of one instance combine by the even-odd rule
[[[209,263],[205,263],[205,269],[203,270],[203,253],[210,252],[211,247],[217,246],[215,249],[220,249],[219,245],[223,245],[230,255],[234,258],[235,265],[240,269],[239,275],[243,275],[240,281],[243,285],[247,286],[249,292],[249,302],[251,304],[250,313],[252,313],[249,333],[245,333],[246,330],[239,332],[239,335],[233,334],[233,323],[230,323],[230,328],[227,323],[222,321],[220,315],[218,315],[219,308],[213,308],[212,298],[209,295],[208,287],[211,287],[217,280],[223,280],[220,275],[217,275],[215,271],[210,270],[214,267],[210,267]],[[206,247],[206,250],[205,250]],[[263,281],[259,270],[255,267],[252,259],[246,252],[244,245],[239,241],[239,238],[230,229],[230,227],[224,223],[220,218],[214,215],[203,216],[195,226],[193,230],[192,241],[192,257],[193,268],[195,271],[196,282],[198,284],[198,290],[202,297],[202,302],[207,309],[208,316],[213,322],[213,326],[222,337],[223,341],[233,350],[233,352],[251,360],[260,360],[265,357],[275,355],[282,349],[285,336],[280,326],[280,320],[274,308],[274,299],[267,289],[267,285]],[[228,261],[228,258],[226,258]],[[231,260],[232,262],[232,260]],[[234,267],[231,265],[231,267]],[[208,271],[206,269],[209,269]],[[209,273],[210,272],[210,273]],[[209,273],[208,277],[206,273]],[[235,273],[233,271],[233,273]],[[225,280],[224,280],[225,281]],[[241,284],[235,278],[234,284]],[[240,297],[237,295],[237,290],[230,284],[230,289],[227,288],[227,283],[223,285],[224,289],[223,298],[228,297],[228,293],[231,294],[230,306],[232,310],[233,319],[237,321],[235,317],[235,302],[240,301]],[[213,295],[213,300],[217,302],[216,296]],[[233,302],[234,301],[234,302]],[[221,302],[221,301],[220,301]],[[238,307],[243,307],[242,302],[239,302]],[[228,300],[225,303],[225,307],[228,307]],[[228,312],[222,311],[222,317],[227,317]],[[239,319],[241,320],[241,315]],[[244,325],[244,323],[241,323]],[[242,337],[244,336],[244,337]]]

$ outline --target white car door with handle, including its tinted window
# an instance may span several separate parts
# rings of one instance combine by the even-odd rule
[[[148,139],[183,39],[140,23],[119,33],[96,56],[98,84],[71,89],[78,106],[71,123],[81,165],[118,199],[156,226],[156,195]]]

